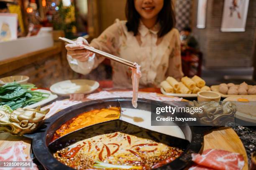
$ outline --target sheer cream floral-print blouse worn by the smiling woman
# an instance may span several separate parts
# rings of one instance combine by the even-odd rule
[[[159,87],[167,76],[179,80],[183,76],[181,65],[179,31],[175,28],[158,38],[160,25],[149,30],[140,22],[138,35],[128,32],[126,21],[116,20],[102,34],[92,40],[90,46],[136,62],[141,65],[142,77],[140,87]],[[69,65],[75,72],[88,74],[96,68],[105,57],[95,56],[86,62],[80,62],[67,56]],[[111,60],[113,84],[117,88],[131,88],[131,69]]]

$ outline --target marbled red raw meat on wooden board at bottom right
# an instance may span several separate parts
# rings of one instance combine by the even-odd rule
[[[202,155],[192,153],[192,161],[197,165],[215,170],[242,170],[244,166],[241,154],[215,149],[205,150]]]

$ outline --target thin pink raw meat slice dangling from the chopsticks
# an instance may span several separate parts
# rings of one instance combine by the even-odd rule
[[[132,104],[133,107],[137,107],[137,100],[138,100],[138,87],[141,78],[141,66],[138,65],[136,62],[133,64],[136,68],[131,67],[132,69],[132,82],[133,82],[133,99]]]

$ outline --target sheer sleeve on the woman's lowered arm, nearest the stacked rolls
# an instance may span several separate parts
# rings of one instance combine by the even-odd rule
[[[175,29],[172,42],[174,45],[169,55],[169,67],[167,70],[167,76],[174,77],[180,80],[184,74],[182,72],[182,60],[181,60],[181,44],[179,39],[179,31]]]

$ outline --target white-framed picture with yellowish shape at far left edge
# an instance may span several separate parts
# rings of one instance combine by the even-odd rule
[[[17,39],[18,15],[0,13],[0,41]]]

